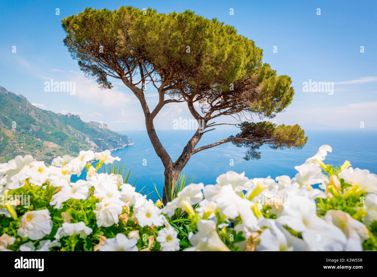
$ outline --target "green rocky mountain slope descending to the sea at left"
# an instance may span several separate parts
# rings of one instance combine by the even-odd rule
[[[58,155],[112,151],[132,144],[128,136],[109,130],[106,124],[39,109],[25,96],[0,87],[0,162],[30,154],[49,163]]]

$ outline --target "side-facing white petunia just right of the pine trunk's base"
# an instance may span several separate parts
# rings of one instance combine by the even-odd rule
[[[197,204],[203,199],[203,188],[203,183],[186,186],[183,190],[179,191],[177,197],[173,199],[172,202],[167,203],[166,206],[161,209],[161,213],[172,216],[175,213],[176,208],[182,208],[187,213],[193,214],[194,210],[192,205]]]

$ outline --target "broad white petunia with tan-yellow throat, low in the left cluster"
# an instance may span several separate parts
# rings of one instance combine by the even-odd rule
[[[18,236],[29,237],[31,240],[41,239],[49,235],[52,230],[50,211],[38,210],[26,212],[20,221]]]

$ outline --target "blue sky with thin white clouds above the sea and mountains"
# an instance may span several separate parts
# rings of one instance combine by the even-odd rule
[[[62,18],[89,6],[112,10],[122,5],[163,13],[190,9],[216,17],[254,40],[264,50],[263,61],[278,74],[289,75],[296,91],[293,103],[271,121],[312,129],[359,130],[363,121],[363,130],[377,128],[375,1],[2,1],[0,86],[25,95],[43,109],[77,113],[84,121],[102,121],[110,129],[145,129],[141,108],[130,90],[117,80],[112,90],[98,89],[63,45]],[[60,15],[55,15],[56,8]],[[75,81],[75,95],[44,92],[44,82],[50,79]],[[303,82],[309,80],[334,82],[334,94],[303,92]],[[147,87],[146,95],[154,107],[156,91]],[[156,129],[172,129],[179,117],[192,118],[182,104],[164,107],[155,119]],[[221,122],[233,121],[223,118]]]

